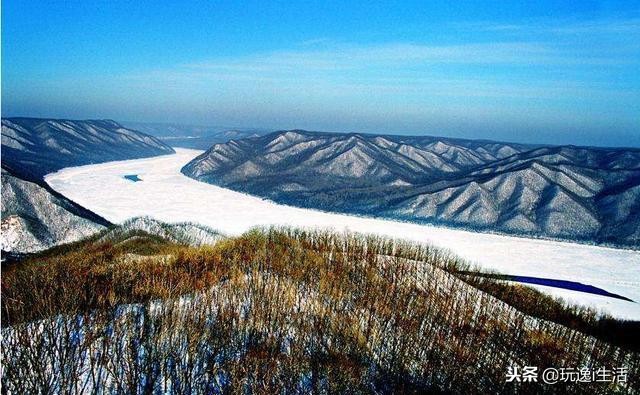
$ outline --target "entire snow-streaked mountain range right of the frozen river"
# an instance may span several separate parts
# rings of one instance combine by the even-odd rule
[[[182,172],[302,207],[640,244],[640,149],[292,130],[216,144]]]

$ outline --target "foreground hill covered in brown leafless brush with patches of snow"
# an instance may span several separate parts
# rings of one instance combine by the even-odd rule
[[[144,234],[80,243],[3,273],[3,391],[638,389],[636,352],[524,314],[463,269],[425,245],[289,229],[199,248]],[[525,365],[625,366],[629,382],[505,382]]]

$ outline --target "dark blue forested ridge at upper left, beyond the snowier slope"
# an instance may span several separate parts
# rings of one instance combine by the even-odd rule
[[[2,164],[30,181],[64,167],[173,152],[157,138],[110,120],[2,119]]]

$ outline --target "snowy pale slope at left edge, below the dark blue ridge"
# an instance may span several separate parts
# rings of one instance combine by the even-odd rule
[[[36,252],[87,237],[107,225],[53,190],[2,169],[2,251]]]

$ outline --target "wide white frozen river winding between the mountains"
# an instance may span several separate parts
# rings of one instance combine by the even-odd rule
[[[62,169],[45,181],[56,191],[119,223],[135,216],[193,221],[228,235],[259,225],[331,228],[428,242],[504,274],[575,281],[636,302],[535,285],[541,291],[640,320],[640,251],[475,233],[276,204],[195,181],[180,169],[202,151]],[[136,175],[132,182],[125,176]]]

